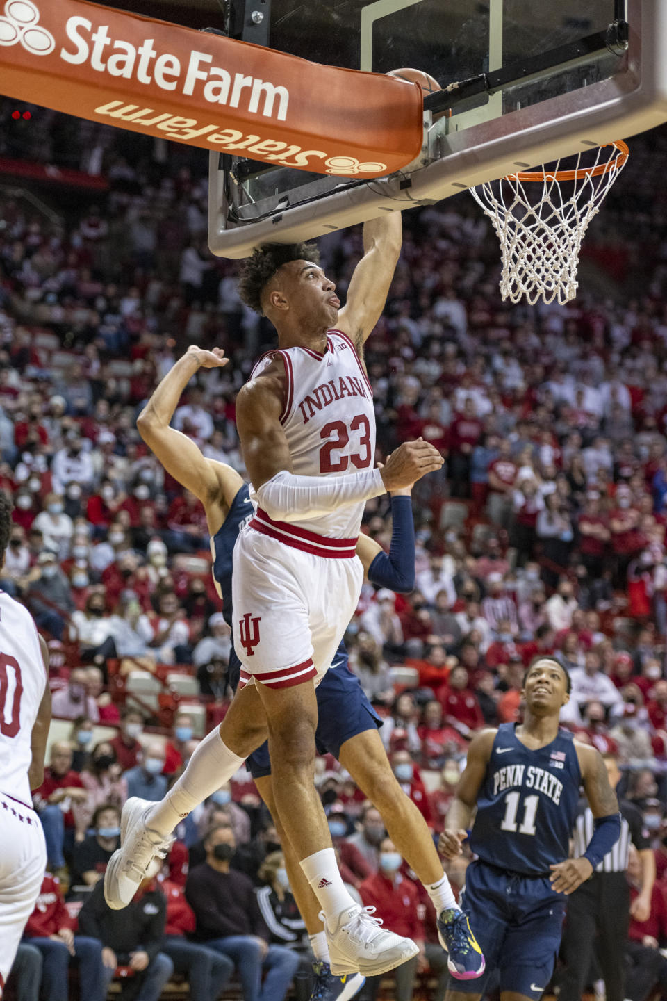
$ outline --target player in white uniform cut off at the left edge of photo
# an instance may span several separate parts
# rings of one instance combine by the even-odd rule
[[[0,567],[12,528],[0,490]],[[49,655],[32,616],[0,592],[0,998],[44,879],[46,844],[30,790],[44,781]]]

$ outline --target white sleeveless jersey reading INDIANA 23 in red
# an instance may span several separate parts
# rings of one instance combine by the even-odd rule
[[[375,459],[373,392],[354,344],[340,330],[327,332],[324,354],[308,347],[286,347],[263,355],[250,379],[276,357],[285,365],[285,397],[280,422],[302,476],[341,476],[372,468]],[[254,490],[250,491],[256,499]],[[359,535],[364,502],[346,505],[319,518],[290,522],[330,539]],[[263,516],[266,517],[266,516]]]

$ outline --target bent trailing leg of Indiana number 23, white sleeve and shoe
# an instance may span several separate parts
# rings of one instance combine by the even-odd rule
[[[266,718],[254,687],[238,692],[220,727],[201,742],[183,775],[159,803],[130,798],[121,814],[121,847],[104,874],[109,907],[126,907],[156,857],[164,858],[177,824],[231,779],[266,737]]]

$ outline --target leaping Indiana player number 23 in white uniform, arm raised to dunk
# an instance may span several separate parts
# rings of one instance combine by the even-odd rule
[[[236,403],[258,504],[234,552],[239,693],[161,804],[126,804],[123,845],[105,878],[110,906],[129,903],[179,819],[233,774],[268,730],[276,811],[322,908],[335,975],[380,974],[417,953],[349,896],[313,783],[315,684],[357,605],[364,503],[442,465],[420,440],[373,468],[375,416],[362,351],[384,306],[400,226],[398,212],[365,224],[364,257],[340,312],[313,245],[270,245],[244,266],[242,295],[274,323],[279,348],[260,359]],[[193,359],[193,374],[197,367]]]

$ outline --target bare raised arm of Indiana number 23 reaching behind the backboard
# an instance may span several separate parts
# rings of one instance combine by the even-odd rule
[[[403,242],[401,213],[385,212],[365,222],[363,239],[364,256],[354,269],[336,324],[350,336],[359,354],[380,318],[394,277]]]

